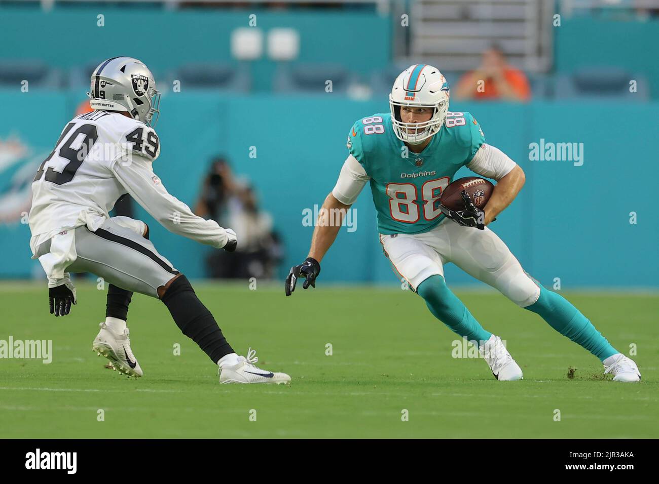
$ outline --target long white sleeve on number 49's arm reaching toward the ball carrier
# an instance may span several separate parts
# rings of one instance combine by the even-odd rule
[[[218,249],[227,244],[227,233],[217,222],[194,215],[188,205],[167,192],[146,157],[133,155],[130,163],[117,161],[112,171],[130,196],[165,229]]]

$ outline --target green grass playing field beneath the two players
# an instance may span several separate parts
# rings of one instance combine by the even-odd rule
[[[0,360],[0,437],[659,437],[657,294],[565,294],[618,350],[637,345],[643,381],[619,384],[537,315],[494,292],[457,291],[525,372],[498,382],[484,361],[451,357],[457,336],[410,291],[319,281],[285,298],[283,284],[196,284],[232,346],[289,373],[285,387],[219,385],[165,306],[138,294],[129,328],[144,377],[105,369],[91,350],[105,292],[78,286],[71,315],[55,318],[45,284],[0,284],[0,339],[53,340],[50,364]]]

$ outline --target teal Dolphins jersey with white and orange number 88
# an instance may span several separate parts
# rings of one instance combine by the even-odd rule
[[[470,113],[447,113],[444,126],[421,153],[413,153],[393,133],[390,113],[353,124],[347,148],[370,176],[381,234],[418,234],[435,227],[442,190],[485,142]]]

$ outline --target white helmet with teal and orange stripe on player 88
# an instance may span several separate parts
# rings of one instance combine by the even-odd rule
[[[403,122],[401,106],[430,107],[432,118],[426,122]],[[436,67],[416,64],[403,70],[389,94],[393,132],[411,145],[420,144],[442,128],[449,109],[449,84]]]

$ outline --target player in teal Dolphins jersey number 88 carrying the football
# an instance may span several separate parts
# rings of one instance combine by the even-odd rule
[[[490,284],[515,304],[539,314],[561,335],[580,344],[604,364],[614,381],[640,381],[633,360],[617,351],[577,308],[544,288],[522,269],[503,241],[486,227],[521,190],[522,169],[484,134],[467,112],[449,112],[449,86],[442,73],[418,64],[404,70],[389,95],[389,113],[355,122],[349,156],[320,217],[345,211],[370,183],[384,254],[430,312],[452,331],[478,346],[498,380],[522,379],[522,370],[501,338],[486,331],[444,281],[444,265],[455,263]],[[440,205],[455,172],[467,167],[497,181],[483,210],[464,192],[465,209]],[[316,286],[320,261],[341,227],[319,217],[307,259],[291,268],[286,295]],[[340,217],[339,217],[340,218]],[[331,221],[331,219],[330,219]]]

